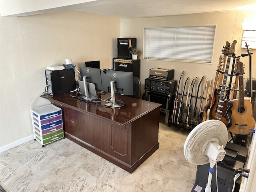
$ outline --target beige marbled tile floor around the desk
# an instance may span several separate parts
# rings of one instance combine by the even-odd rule
[[[0,153],[6,192],[190,192],[196,166],[183,155],[188,131],[159,124],[160,147],[132,174],[68,140],[31,140]]]

